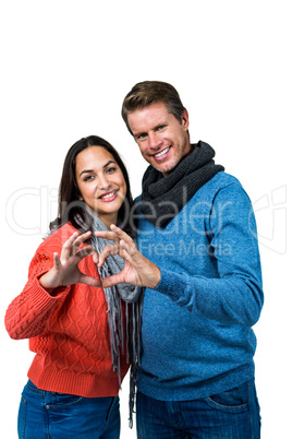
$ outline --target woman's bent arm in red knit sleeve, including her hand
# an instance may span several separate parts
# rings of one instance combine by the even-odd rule
[[[5,328],[12,339],[31,339],[44,333],[51,313],[59,307],[71,285],[85,283],[100,286],[100,280],[87,276],[78,269],[80,261],[97,253],[90,246],[80,249],[90,233],[74,233],[61,247],[41,246],[33,258],[28,281],[23,292],[10,304],[5,313]],[[61,248],[60,256],[58,248]]]

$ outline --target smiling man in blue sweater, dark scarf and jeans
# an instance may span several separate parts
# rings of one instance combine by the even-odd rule
[[[264,298],[250,199],[207,143],[191,144],[172,85],[136,84],[122,116],[149,163],[137,200],[147,260],[112,227],[126,260],[119,282],[146,286],[137,437],[259,438],[252,327]]]

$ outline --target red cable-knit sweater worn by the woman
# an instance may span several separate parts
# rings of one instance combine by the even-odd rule
[[[7,310],[5,327],[12,339],[29,339],[29,348],[36,355],[28,378],[39,389],[86,398],[114,396],[119,379],[111,365],[102,288],[75,284],[59,287],[50,296],[38,282],[52,268],[53,252],[60,254],[74,232],[71,224],[65,224],[38,247],[28,282]],[[78,266],[83,273],[98,277],[92,257],[84,258]],[[127,368],[122,355],[122,379]]]

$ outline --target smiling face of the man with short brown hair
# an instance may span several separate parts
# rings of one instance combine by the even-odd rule
[[[180,123],[163,103],[157,103],[130,112],[127,121],[143,157],[163,177],[191,152],[186,110]]]

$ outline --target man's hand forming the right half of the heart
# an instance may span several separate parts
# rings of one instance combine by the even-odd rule
[[[132,284],[155,288],[161,278],[160,270],[151,261],[146,259],[136,248],[133,239],[113,224],[111,232],[95,232],[98,238],[106,238],[115,242],[115,246],[107,246],[99,254],[98,266],[102,266],[109,254],[119,254],[125,260],[124,269],[102,281],[105,288],[117,284]]]

